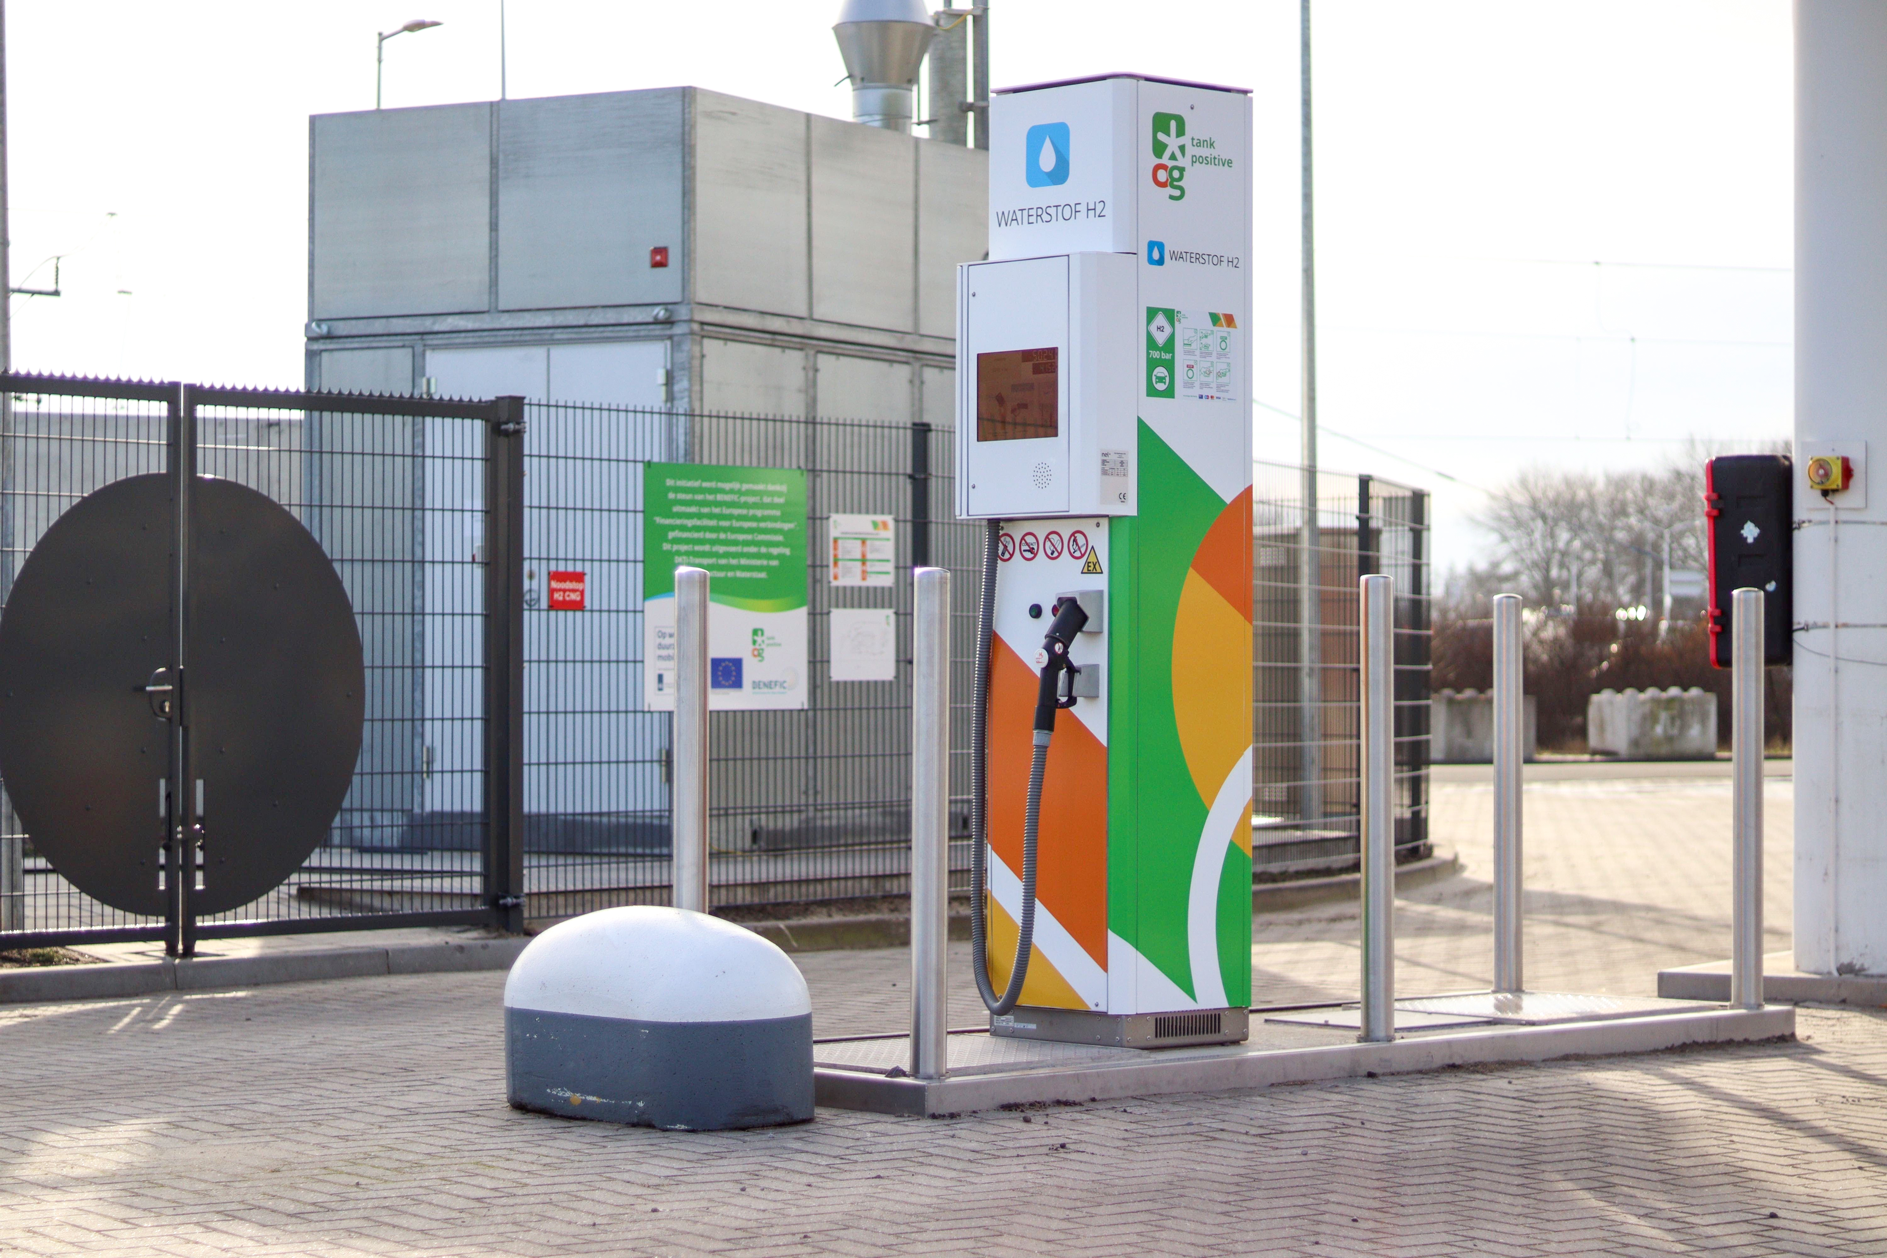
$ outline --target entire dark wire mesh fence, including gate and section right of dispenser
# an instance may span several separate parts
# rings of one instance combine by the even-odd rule
[[[177,430],[174,385],[42,389],[0,402],[0,602],[64,509],[115,479],[166,473]],[[955,573],[951,868],[966,890],[981,530],[953,519],[949,428],[528,404],[513,517],[493,502],[496,404],[323,398],[202,390],[189,404],[198,473],[260,490],[321,543],[366,670],[360,758],[326,839],[262,900],[204,919],[204,934],[506,924],[670,900],[670,715],[643,696],[651,462],[800,468],[808,487],[806,705],[711,722],[711,902],[764,913],[908,890],[908,573],[921,564]],[[1306,513],[1298,481],[1294,468],[1257,468],[1261,879],[1355,862],[1361,571],[1396,577],[1396,841],[1427,843],[1425,498],[1325,473]],[[894,521],[891,587],[828,579],[834,513]],[[494,651],[511,647],[493,562],[521,568],[521,645],[504,656],[521,656],[515,700],[494,698],[508,694]],[[579,609],[553,600],[553,573],[579,573]],[[830,617],[849,607],[893,615],[891,679],[834,679]],[[515,722],[517,749],[493,713]],[[521,807],[493,803],[494,756],[515,758]],[[0,822],[0,947],[162,934],[60,877],[4,792]],[[153,811],[151,824],[157,843],[164,819]]]

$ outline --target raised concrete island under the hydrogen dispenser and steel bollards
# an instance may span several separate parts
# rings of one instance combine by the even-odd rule
[[[1255,1022],[1242,1045],[1204,1049],[1096,1049],[987,1032],[949,1037],[949,1073],[911,1079],[906,1035],[813,1045],[821,1105],[885,1115],[962,1115],[1006,1105],[1053,1105],[1227,1092],[1281,1083],[1317,1083],[1564,1056],[1657,1052],[1679,1045],[1793,1039],[1795,1009],[1728,1009],[1681,1001],[1666,1011],[1634,1011],[1570,1022],[1413,1030],[1391,1043],[1357,1043],[1336,1026]]]

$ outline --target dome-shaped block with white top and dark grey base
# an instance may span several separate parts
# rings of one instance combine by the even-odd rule
[[[551,926],[504,983],[515,1109],[677,1132],[813,1117],[813,1013],[777,947],[653,905]]]

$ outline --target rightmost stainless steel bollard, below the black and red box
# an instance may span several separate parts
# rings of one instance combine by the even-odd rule
[[[1762,1007],[1762,590],[1730,594],[1730,1003]]]

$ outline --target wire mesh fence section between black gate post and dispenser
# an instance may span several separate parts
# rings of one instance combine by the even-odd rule
[[[666,903],[668,713],[643,681],[642,475],[649,460],[806,472],[806,707],[717,711],[710,732],[713,905],[902,894],[910,875],[908,575],[832,585],[834,513],[891,517],[894,571],[953,583],[953,679],[968,730],[977,530],[947,519],[947,428],[759,415],[530,406],[526,441],[526,868],[532,917]],[[945,519],[938,519],[944,515]],[[583,615],[551,605],[549,573],[581,571]],[[893,613],[894,675],[836,681],[834,607]],[[968,745],[953,753],[955,832],[968,834]],[[968,871],[968,847],[957,864]]]

